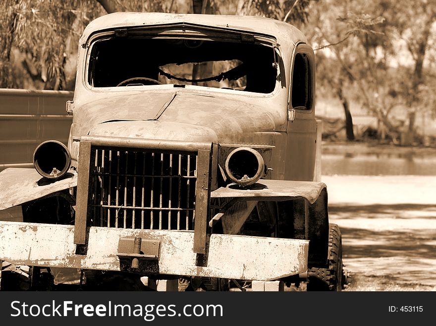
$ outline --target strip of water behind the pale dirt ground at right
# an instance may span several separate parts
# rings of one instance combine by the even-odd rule
[[[436,175],[436,156],[416,154],[323,154],[323,175]]]

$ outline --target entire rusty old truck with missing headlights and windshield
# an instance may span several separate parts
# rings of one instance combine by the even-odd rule
[[[67,146],[44,141],[35,169],[0,173],[8,271],[28,266],[30,289],[52,289],[53,268],[80,271],[83,289],[346,285],[300,30],[123,12],[92,21],[78,49]]]

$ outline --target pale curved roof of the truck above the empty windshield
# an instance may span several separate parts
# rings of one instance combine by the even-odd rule
[[[274,37],[277,43],[285,48],[300,41],[307,43],[306,37],[298,28],[272,18],[163,12],[114,12],[101,16],[89,23],[82,34],[81,41],[84,42],[99,30],[180,23],[265,34]]]

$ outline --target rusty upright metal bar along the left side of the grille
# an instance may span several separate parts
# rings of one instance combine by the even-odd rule
[[[74,243],[78,245],[86,244],[86,226],[89,211],[88,196],[91,187],[89,183],[91,156],[91,142],[80,141],[80,160],[77,168],[80,173],[77,180],[76,217],[74,221]]]

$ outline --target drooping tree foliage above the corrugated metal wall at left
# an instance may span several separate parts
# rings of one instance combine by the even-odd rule
[[[95,0],[5,0],[0,5],[0,87],[67,89],[71,51],[103,14]],[[100,6],[101,7],[101,6]]]

